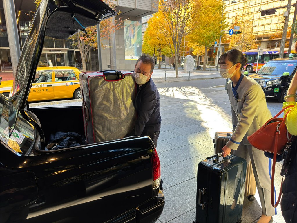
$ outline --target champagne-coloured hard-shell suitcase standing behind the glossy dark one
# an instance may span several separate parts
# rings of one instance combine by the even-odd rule
[[[216,132],[214,135],[214,154],[221,153],[222,148],[227,144],[228,140],[231,138],[232,132]],[[255,200],[256,193],[256,181],[254,172],[252,169],[252,163],[247,164],[247,176],[246,184],[244,190],[244,196],[247,197],[250,201]]]

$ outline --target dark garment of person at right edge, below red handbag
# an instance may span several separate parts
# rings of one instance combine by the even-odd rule
[[[297,222],[297,136],[291,146],[291,161],[282,184],[281,209],[286,223]]]

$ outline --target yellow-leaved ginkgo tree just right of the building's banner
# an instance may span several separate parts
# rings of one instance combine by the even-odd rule
[[[151,56],[157,54],[158,68],[161,68],[162,55],[171,57],[171,51],[160,27],[162,16],[160,17],[159,14],[160,12],[155,13],[148,21],[148,27],[143,36],[142,52]]]

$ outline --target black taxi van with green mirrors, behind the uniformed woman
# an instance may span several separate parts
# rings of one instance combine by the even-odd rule
[[[297,70],[297,57],[269,60],[256,73],[249,75],[262,87],[266,98],[275,98],[285,102],[284,97]]]

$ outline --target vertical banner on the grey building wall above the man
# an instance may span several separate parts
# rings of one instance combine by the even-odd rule
[[[141,23],[124,21],[125,59],[137,60],[141,55]]]

